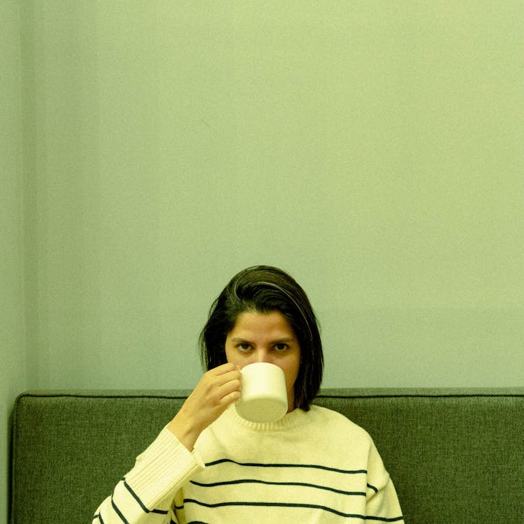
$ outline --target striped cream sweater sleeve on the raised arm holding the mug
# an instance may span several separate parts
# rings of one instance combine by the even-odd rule
[[[163,428],[96,510],[93,524],[176,523],[175,495],[204,467],[197,451],[189,452],[172,432]]]

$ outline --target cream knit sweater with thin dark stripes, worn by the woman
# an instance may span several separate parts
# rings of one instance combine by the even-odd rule
[[[274,423],[233,406],[189,453],[164,428],[97,509],[94,524],[403,523],[367,432],[312,406]]]

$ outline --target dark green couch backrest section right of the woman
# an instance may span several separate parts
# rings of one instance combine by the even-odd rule
[[[348,395],[317,401],[370,432],[406,523],[524,523],[523,388]]]

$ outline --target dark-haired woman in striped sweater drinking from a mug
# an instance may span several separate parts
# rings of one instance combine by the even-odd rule
[[[93,521],[113,523],[403,523],[372,439],[337,412],[313,406],[323,356],[314,312],[282,270],[238,273],[201,333],[208,369]],[[242,419],[240,370],[282,368],[288,412]]]

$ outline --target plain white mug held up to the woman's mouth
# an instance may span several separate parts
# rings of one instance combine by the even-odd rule
[[[235,404],[238,414],[251,422],[274,422],[287,412],[284,372],[275,364],[256,362],[242,367],[242,390]]]

